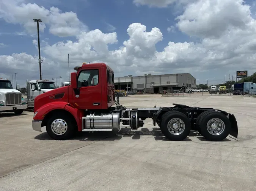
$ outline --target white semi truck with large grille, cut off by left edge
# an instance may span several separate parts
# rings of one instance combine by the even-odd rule
[[[21,92],[13,88],[10,80],[0,78],[0,112],[22,114],[24,109],[27,109],[27,103]]]

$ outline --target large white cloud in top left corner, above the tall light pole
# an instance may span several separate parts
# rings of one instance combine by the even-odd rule
[[[62,12],[55,7],[46,9],[35,3],[26,4],[25,0],[1,0],[0,18],[8,23],[23,25],[30,34],[35,34],[37,30],[33,18],[42,20],[42,23],[39,23],[41,32],[49,25],[49,32],[60,37],[75,36],[81,30],[88,29],[74,12]]]

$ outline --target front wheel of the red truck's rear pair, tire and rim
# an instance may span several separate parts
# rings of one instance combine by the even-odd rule
[[[190,133],[191,123],[182,112],[168,111],[162,116],[160,128],[167,139],[180,141]]]

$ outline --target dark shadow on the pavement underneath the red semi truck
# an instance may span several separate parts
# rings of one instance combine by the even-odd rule
[[[149,137],[152,136],[156,141],[162,140],[162,141],[171,141],[167,139],[160,128],[153,128],[152,131],[150,131],[148,128],[141,128],[137,131],[132,131],[131,128],[121,128],[121,130],[118,132],[118,134],[114,134],[113,132],[77,132],[77,134],[70,140],[80,140],[80,141],[115,141],[115,140],[121,140],[123,137],[132,137],[133,140],[138,140],[142,137]],[[183,141],[192,141],[189,139],[189,137],[197,137],[201,141],[207,141],[204,139],[201,134],[199,134],[197,131],[191,131],[190,134],[186,139]],[[47,132],[43,132],[42,134],[39,134],[35,137],[35,139],[38,140],[53,140],[51,139]],[[225,141],[231,141],[229,139],[224,139]],[[222,141],[222,142],[223,142]]]

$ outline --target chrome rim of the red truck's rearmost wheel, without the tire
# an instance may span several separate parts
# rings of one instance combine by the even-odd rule
[[[225,130],[225,123],[218,118],[210,119],[207,123],[207,131],[215,136],[220,135]]]

